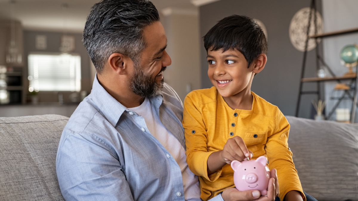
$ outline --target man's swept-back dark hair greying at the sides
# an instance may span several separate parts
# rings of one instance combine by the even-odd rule
[[[83,30],[83,45],[101,73],[112,53],[122,53],[138,63],[146,47],[142,30],[159,13],[148,0],[102,0],[92,6]]]

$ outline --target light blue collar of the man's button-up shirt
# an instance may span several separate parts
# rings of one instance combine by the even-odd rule
[[[116,126],[119,118],[124,112],[129,112],[128,108],[113,98],[111,94],[109,94],[106,89],[102,87],[102,85],[98,82],[97,73],[95,80],[93,81],[91,94],[92,100],[113,127]],[[163,102],[163,96],[159,94],[155,97],[149,98],[149,100],[152,104],[154,103],[154,105],[159,108]]]

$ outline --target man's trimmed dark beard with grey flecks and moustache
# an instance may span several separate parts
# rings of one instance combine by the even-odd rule
[[[164,78],[158,84],[155,78],[151,78],[151,75],[146,74],[139,64],[134,64],[135,73],[132,77],[131,89],[132,91],[140,95],[141,97],[148,98],[154,97],[163,90]],[[164,71],[166,67],[162,67],[161,71]]]

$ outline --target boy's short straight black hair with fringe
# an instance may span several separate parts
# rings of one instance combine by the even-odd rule
[[[213,26],[204,36],[206,52],[222,49],[240,51],[247,60],[248,66],[261,53],[267,54],[265,33],[255,20],[248,16],[231,15]]]

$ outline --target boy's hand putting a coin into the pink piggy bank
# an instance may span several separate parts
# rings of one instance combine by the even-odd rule
[[[221,151],[221,158],[223,162],[228,164],[230,164],[233,160],[241,162],[247,157],[251,159],[252,156],[252,152],[247,149],[244,140],[239,136],[228,139],[223,150]]]

